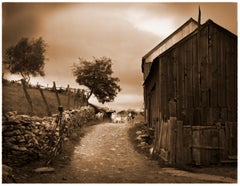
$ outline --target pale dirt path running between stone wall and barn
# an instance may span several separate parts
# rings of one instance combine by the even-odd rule
[[[160,168],[134,150],[129,127],[127,123],[88,127],[67,165],[55,167],[53,173],[34,173],[25,183],[236,183],[226,177]]]

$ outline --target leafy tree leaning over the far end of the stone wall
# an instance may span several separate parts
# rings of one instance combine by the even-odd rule
[[[89,89],[87,100],[94,94],[102,104],[113,101],[121,91],[119,78],[112,77],[112,73],[112,60],[107,57],[94,58],[93,61],[79,58],[79,63],[73,67],[76,82]]]

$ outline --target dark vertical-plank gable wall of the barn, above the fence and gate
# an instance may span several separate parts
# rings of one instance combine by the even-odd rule
[[[236,121],[237,43],[211,22],[159,56],[159,111],[170,117],[169,101],[185,125]]]

